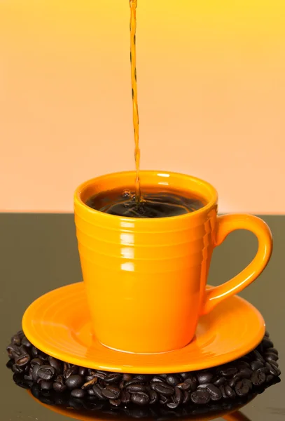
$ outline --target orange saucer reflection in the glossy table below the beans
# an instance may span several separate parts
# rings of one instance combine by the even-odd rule
[[[65,408],[64,406],[60,405],[48,405],[47,403],[41,402],[39,399],[37,399],[35,396],[33,396],[32,392],[30,390],[27,391],[29,396],[32,396],[32,398],[41,404],[46,409],[52,410],[53,412],[63,415],[64,417],[71,418],[73,420],[80,420],[80,421],[132,421],[134,419],[139,420],[140,417],[136,416],[131,417],[130,415],[122,415],[114,412],[113,414],[110,413],[110,411],[104,412],[104,410],[76,410],[75,408],[68,407]],[[254,399],[255,395],[253,395],[252,399]],[[208,410],[207,413],[204,413],[202,415],[181,415],[175,417],[176,421],[211,421],[216,420],[216,418],[222,417],[223,420],[226,421],[251,421],[249,420],[246,415],[244,415],[242,412],[239,411],[239,409],[244,408],[244,406],[247,405],[252,399],[249,399],[246,403],[243,404],[237,404],[232,405],[232,409],[216,409],[216,410]],[[216,406],[218,406],[218,403],[216,403]],[[146,417],[141,416],[141,419],[144,421],[153,421],[155,420],[155,417]],[[163,416],[163,419],[165,421],[173,420],[173,413],[172,415]]]

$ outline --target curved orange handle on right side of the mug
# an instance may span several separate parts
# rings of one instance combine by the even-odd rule
[[[258,239],[258,250],[255,258],[239,274],[230,281],[205,291],[202,315],[208,314],[225,298],[239,293],[249,286],[265,269],[272,253],[272,234],[267,224],[253,215],[235,214],[217,217],[216,238],[214,247],[220,246],[230,232],[236,229],[247,229],[253,232]]]

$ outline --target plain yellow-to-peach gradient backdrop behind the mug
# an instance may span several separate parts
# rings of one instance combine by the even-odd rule
[[[139,0],[141,168],[285,213],[285,1]],[[128,0],[0,0],[1,210],[134,168]],[[281,192],[281,194],[280,194]]]

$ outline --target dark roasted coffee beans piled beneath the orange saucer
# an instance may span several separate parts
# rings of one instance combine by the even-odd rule
[[[132,375],[94,370],[59,361],[34,347],[22,331],[7,347],[8,368],[15,382],[34,394],[50,392],[76,399],[108,402],[113,407],[202,406],[246,398],[281,374],[278,352],[266,333],[263,341],[241,359],[188,373]],[[37,391],[37,392],[36,392]]]

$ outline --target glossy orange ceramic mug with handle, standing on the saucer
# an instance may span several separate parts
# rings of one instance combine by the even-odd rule
[[[207,182],[162,171],[140,175],[142,187],[189,191],[207,204],[171,218],[109,215],[89,208],[86,200],[133,185],[135,173],[103,175],[76,189],[78,249],[98,340],[125,352],[168,352],[188,345],[200,315],[256,279],[270,259],[272,236],[255,216],[217,216],[217,193]],[[206,290],[212,252],[235,229],[256,234],[256,257],[227,283]]]

